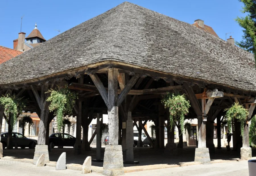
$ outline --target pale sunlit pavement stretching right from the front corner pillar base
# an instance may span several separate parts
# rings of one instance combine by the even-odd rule
[[[248,162],[225,162],[208,165],[190,165],[151,171],[127,173],[125,175],[170,175],[170,176],[248,176]]]

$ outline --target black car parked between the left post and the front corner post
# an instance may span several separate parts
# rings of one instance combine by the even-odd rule
[[[75,147],[76,138],[64,133],[64,138],[62,137],[62,133],[52,133],[49,136],[49,144],[51,148],[55,146],[72,146]]]

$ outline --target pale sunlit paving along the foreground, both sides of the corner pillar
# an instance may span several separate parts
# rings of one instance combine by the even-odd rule
[[[35,167],[33,164],[13,162],[7,160],[0,160],[0,175],[4,176],[28,176],[28,175],[40,175],[40,176],[73,176],[73,175],[84,175],[81,171],[76,170],[63,170],[56,171],[55,167]],[[101,174],[91,173],[88,176],[100,176]],[[210,165],[191,165],[183,167],[172,167],[167,169],[149,170],[126,173],[125,175],[170,175],[170,176],[210,176],[210,175],[221,175],[221,176],[247,176],[248,164],[247,161],[240,162],[225,162],[215,163]]]

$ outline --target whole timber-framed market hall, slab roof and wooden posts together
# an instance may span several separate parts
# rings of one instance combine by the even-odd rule
[[[119,22],[113,28],[112,19]],[[24,64],[31,70],[24,73],[20,69]],[[78,154],[90,150],[91,142],[84,133],[80,144],[81,125],[86,129],[97,113],[107,112],[110,145],[122,144],[128,151],[134,125],[150,139],[143,124],[150,120],[157,126],[156,141],[150,139],[150,143],[164,148],[168,110],[160,100],[167,91],[179,90],[191,103],[187,118],[198,118],[198,148],[210,150],[213,141],[207,133],[213,133],[213,123],[208,122],[223,116],[225,108],[239,102],[249,109],[247,121],[253,117],[254,65],[251,53],[190,24],[125,2],[1,64],[0,88],[2,94],[10,91],[29,99],[24,110],[40,117],[39,145],[48,145],[47,129],[53,118],[45,92],[68,85],[79,93],[73,114],[69,114],[77,116]],[[122,122],[133,124],[121,132]],[[234,148],[249,147],[248,123],[243,143],[239,131],[235,133]],[[168,143],[173,142],[170,135],[174,133],[168,133]],[[129,152],[133,155],[133,150]],[[133,157],[129,160],[133,162]]]

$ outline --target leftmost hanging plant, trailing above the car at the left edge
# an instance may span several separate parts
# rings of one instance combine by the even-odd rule
[[[22,110],[26,107],[26,101],[22,98],[18,98],[14,95],[7,94],[6,97],[0,98],[0,104],[3,105],[5,115],[9,118],[11,116],[11,121],[7,121],[11,125],[11,130],[15,125],[18,115],[22,113]]]

